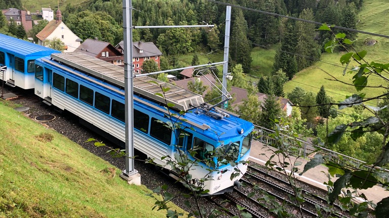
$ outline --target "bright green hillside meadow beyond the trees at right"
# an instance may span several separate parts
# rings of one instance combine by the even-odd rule
[[[388,8],[389,2],[387,1],[365,1],[364,7],[360,12],[360,23],[357,28],[367,32],[389,35],[389,26],[385,24],[388,18]],[[374,46],[365,46],[363,42],[366,38],[374,38],[378,40],[378,43]],[[358,50],[365,49],[368,51],[366,60],[368,60],[369,62],[389,62],[389,59],[387,58],[387,50],[389,49],[389,39],[365,34],[358,34],[358,42]],[[356,93],[356,90],[351,86],[327,80],[328,78],[330,78],[330,76],[324,73],[330,73],[338,79],[348,83],[352,82],[351,75],[348,74],[346,76],[342,76],[343,68],[339,63],[341,55],[341,53],[324,54],[321,62],[318,62],[314,66],[299,72],[292,81],[288,82],[284,87],[285,93],[290,92],[296,86],[300,86],[305,90],[317,93],[322,85],[324,85],[328,94],[331,95],[337,101],[343,100],[345,98],[345,95],[351,95],[353,93]],[[375,77],[371,77],[369,78],[368,85],[380,85],[381,82],[382,80]],[[382,89],[376,88],[367,88],[363,90],[363,92],[366,93],[367,96],[375,96],[381,94],[382,91]],[[374,104],[374,102],[372,103]]]

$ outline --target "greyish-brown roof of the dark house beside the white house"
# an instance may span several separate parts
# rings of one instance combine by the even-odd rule
[[[86,39],[75,51],[79,51],[82,53],[86,53],[87,55],[96,57],[100,55],[101,51],[104,50],[106,47],[109,47],[110,50],[116,53],[116,56],[122,56],[122,52],[120,52],[118,49],[113,47],[111,43],[99,41],[97,39]]]

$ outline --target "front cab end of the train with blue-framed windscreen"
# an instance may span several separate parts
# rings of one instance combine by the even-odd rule
[[[183,139],[177,143],[192,160],[196,160],[189,173],[193,185],[202,185],[204,190],[208,190],[203,195],[232,191],[248,167],[253,124],[235,115],[217,118],[210,115],[218,114],[217,111],[198,107],[186,113],[183,116],[186,120],[206,129],[186,129]],[[207,179],[201,182],[204,178]]]

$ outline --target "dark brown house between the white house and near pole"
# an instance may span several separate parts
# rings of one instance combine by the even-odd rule
[[[104,60],[114,65],[124,65],[123,53],[111,43],[95,39],[86,39],[75,51]]]

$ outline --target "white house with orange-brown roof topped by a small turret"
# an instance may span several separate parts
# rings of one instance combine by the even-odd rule
[[[45,28],[36,34],[38,44],[45,45],[45,40],[59,38],[65,44],[64,52],[74,51],[80,46],[82,40],[76,36],[63,22],[61,11],[57,10],[56,20],[50,21]]]

